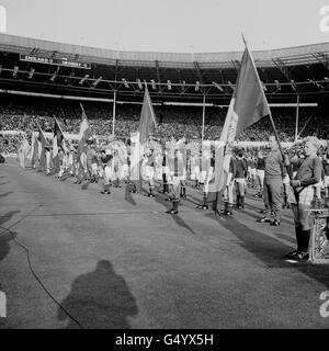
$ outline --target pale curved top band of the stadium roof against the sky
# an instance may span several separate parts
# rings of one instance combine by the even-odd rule
[[[87,47],[71,44],[55,43],[15,35],[0,34],[0,49],[30,55],[67,57],[91,64],[113,65],[118,59],[120,66],[152,66],[158,61],[161,67],[194,68],[198,63],[201,68],[230,68],[232,63],[240,61],[242,52],[227,53],[152,53],[152,52],[118,52],[104,48]],[[286,66],[311,65],[328,58],[329,43],[304,45],[297,47],[252,52],[256,64],[260,67],[274,67],[275,60],[282,60]]]

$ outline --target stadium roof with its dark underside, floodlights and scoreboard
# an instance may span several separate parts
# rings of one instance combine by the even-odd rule
[[[242,45],[241,45],[242,46]],[[252,52],[270,102],[329,95],[329,43]],[[157,102],[228,103],[242,52],[137,53],[0,34],[0,89],[140,101],[143,82]],[[111,95],[112,94],[112,95]],[[116,97],[117,98],[117,97]]]

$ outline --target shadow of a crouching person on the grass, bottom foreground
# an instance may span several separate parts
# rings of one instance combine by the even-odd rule
[[[123,276],[115,274],[110,261],[98,262],[93,272],[78,276],[61,306],[84,329],[129,329],[127,317],[138,313],[135,297]],[[68,320],[67,329],[78,325],[61,308],[58,320]]]

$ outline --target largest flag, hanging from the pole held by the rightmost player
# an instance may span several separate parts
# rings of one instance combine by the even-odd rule
[[[270,107],[252,56],[246,45],[234,97],[226,115],[220,143],[216,147],[215,178],[209,185],[208,201],[218,201],[227,182],[230,144],[248,126],[270,114]],[[215,196],[214,196],[215,194]]]

